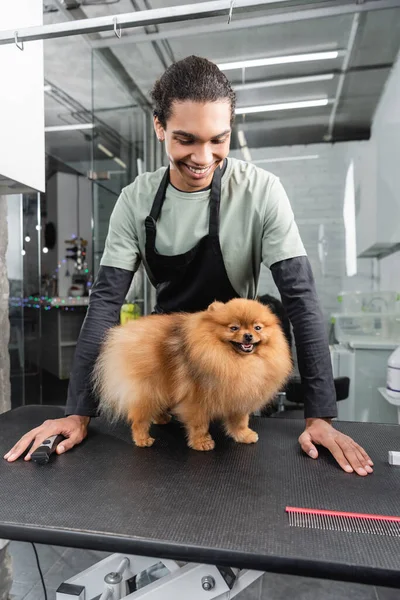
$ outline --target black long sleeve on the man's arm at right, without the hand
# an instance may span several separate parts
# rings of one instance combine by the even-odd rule
[[[304,416],[336,417],[328,339],[310,262],[306,256],[283,260],[271,266],[271,273],[293,325]]]

